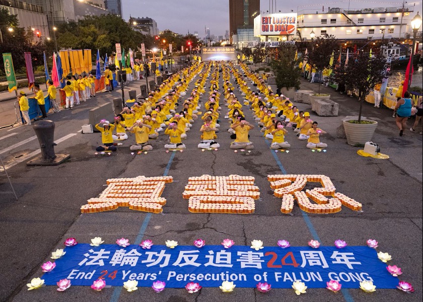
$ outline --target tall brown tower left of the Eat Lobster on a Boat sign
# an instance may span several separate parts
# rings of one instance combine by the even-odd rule
[[[254,17],[260,14],[260,0],[229,0],[229,38],[238,29],[253,30]]]

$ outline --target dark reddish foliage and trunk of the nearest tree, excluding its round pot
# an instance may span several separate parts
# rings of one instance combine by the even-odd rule
[[[359,92],[360,111],[358,123],[361,123],[363,102],[376,84],[390,75],[388,62],[382,54],[372,57],[368,53],[360,52],[356,58],[348,60],[348,64],[340,64],[331,75],[331,80],[345,83]]]

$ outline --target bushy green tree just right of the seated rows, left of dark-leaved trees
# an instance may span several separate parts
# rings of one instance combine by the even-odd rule
[[[300,89],[301,70],[295,61],[296,47],[292,44],[280,44],[275,58],[271,60],[275,75],[276,87],[281,94],[288,98],[294,98],[295,91]],[[290,91],[291,90],[291,91]]]

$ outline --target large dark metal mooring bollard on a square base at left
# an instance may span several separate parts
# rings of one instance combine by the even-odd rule
[[[37,121],[33,125],[40,144],[41,155],[27,162],[27,166],[56,166],[70,157],[69,154],[54,154],[54,122],[50,120]]]

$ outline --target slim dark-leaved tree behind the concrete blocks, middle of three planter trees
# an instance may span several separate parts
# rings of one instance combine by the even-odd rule
[[[339,44],[335,36],[328,34],[315,38],[312,44],[312,50],[308,54],[308,63],[312,66],[316,64],[316,71],[321,79],[323,69],[329,65],[330,57],[333,52],[336,52]],[[318,93],[320,94],[320,85]]]

